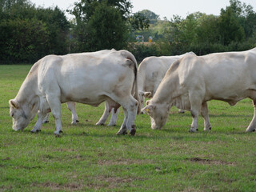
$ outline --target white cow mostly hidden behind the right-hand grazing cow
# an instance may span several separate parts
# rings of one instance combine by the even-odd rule
[[[170,66],[176,60],[187,54],[195,55],[193,52],[189,52],[176,56],[152,56],[143,59],[138,66],[138,98],[141,107],[144,107],[145,98],[152,98],[154,96],[162,78],[164,78]]]

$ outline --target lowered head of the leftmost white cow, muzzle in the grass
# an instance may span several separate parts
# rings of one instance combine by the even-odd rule
[[[29,109],[28,106],[21,105],[14,99],[9,101],[10,117],[13,118],[13,130],[24,130],[36,114],[37,109],[33,106]]]

